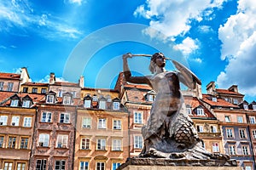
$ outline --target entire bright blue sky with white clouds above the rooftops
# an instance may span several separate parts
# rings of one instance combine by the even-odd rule
[[[164,52],[218,88],[256,97],[253,0],[0,0],[0,71],[26,66],[32,82],[113,88],[121,55]],[[149,74],[148,59],[130,59]],[[167,68],[174,69],[172,63]]]

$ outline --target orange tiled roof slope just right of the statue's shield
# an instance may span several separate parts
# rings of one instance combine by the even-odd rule
[[[237,105],[233,105],[230,102],[227,102],[224,99],[218,98],[217,101],[212,101],[212,95],[211,94],[203,94],[202,100],[206,102],[208,105],[211,105],[213,107],[232,107],[232,108],[239,108]]]

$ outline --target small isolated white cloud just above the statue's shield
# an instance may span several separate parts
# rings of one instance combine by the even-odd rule
[[[198,40],[193,40],[190,37],[186,37],[182,43],[175,45],[173,48],[181,50],[183,55],[188,57],[189,54],[193,53],[196,49],[199,48]]]

